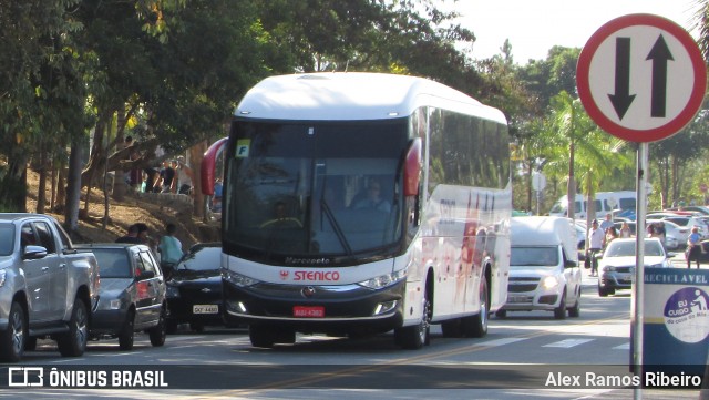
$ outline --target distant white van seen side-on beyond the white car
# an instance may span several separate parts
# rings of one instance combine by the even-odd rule
[[[596,209],[595,218],[605,218],[606,214],[614,209],[633,209],[635,211],[637,193],[634,191],[621,192],[598,192],[594,202]],[[576,219],[585,219],[588,202],[583,194],[576,194],[576,203],[574,204],[574,213]],[[568,199],[566,195],[559,197],[552,206],[549,215],[565,217],[568,209]]]

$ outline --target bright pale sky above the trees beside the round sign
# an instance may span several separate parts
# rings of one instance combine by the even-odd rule
[[[697,9],[697,0],[446,0],[443,4],[442,9],[460,12],[460,23],[477,38],[474,59],[500,54],[510,39],[518,64],[546,59],[554,45],[583,48],[598,28],[626,14],[653,13],[690,30]]]

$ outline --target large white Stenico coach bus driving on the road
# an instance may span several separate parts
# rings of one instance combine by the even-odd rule
[[[224,310],[253,346],[486,334],[510,268],[500,111],[420,78],[273,76],[237,106],[225,148]]]

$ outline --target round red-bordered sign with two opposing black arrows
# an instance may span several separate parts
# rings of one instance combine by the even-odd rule
[[[671,136],[702,104],[707,70],[691,35],[653,14],[600,27],[576,69],[578,96],[606,132],[631,142]]]

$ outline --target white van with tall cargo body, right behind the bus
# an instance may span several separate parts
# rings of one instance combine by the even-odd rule
[[[548,310],[556,319],[580,314],[580,267],[574,222],[564,217],[513,217],[507,302],[497,310]]]

